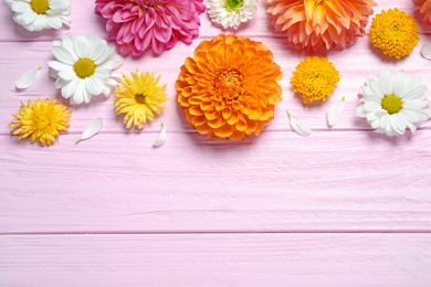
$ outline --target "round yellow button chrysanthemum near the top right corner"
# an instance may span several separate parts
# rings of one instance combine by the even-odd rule
[[[419,41],[418,23],[413,17],[397,8],[381,11],[372,19],[369,39],[389,56],[408,55]]]

